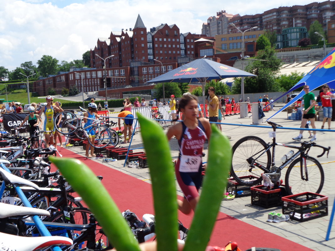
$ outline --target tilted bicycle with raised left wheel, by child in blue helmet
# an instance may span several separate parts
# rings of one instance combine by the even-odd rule
[[[79,108],[86,112],[85,109]],[[119,143],[119,136],[118,133],[110,129],[106,123],[102,123],[99,119],[92,119],[92,118],[87,118],[90,120],[93,120],[93,122],[86,127],[82,127],[82,122],[84,120],[84,116],[80,115],[77,116],[73,112],[70,111],[63,111],[57,114],[55,121],[58,120],[58,117],[61,116],[62,121],[60,123],[60,127],[56,127],[56,131],[63,135],[73,135],[75,134],[79,139],[85,139],[88,138],[88,135],[91,134],[91,132],[94,132],[95,135],[95,141],[94,145],[92,144],[91,141],[88,141],[88,143],[94,147],[94,148],[105,148],[109,144],[112,144],[113,146],[117,146]],[[87,133],[85,130],[90,129],[90,131]],[[97,144],[95,144],[97,143]]]

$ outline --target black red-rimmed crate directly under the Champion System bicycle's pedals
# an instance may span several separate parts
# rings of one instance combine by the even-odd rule
[[[263,185],[251,187],[251,204],[265,208],[281,205],[281,197],[286,196],[285,185],[274,187],[272,190]]]

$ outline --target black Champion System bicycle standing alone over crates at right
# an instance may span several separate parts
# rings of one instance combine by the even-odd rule
[[[320,193],[324,183],[324,172],[318,160],[308,155],[311,147],[320,147],[323,153],[329,154],[330,147],[326,148],[314,142],[302,142],[301,146],[276,143],[276,128],[282,127],[267,121],[273,128],[271,144],[256,136],[247,136],[237,141],[232,147],[232,164],[230,174],[241,185],[253,186],[261,182],[262,174],[267,175],[275,183],[279,181],[281,170],[289,165],[285,174],[285,188],[288,194],[302,192]],[[275,165],[275,146],[297,149],[296,153],[287,158],[279,166]],[[271,151],[272,148],[272,158]]]

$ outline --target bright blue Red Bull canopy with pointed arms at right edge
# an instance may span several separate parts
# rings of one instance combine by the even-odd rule
[[[303,87],[304,85],[308,85],[310,87],[310,91],[312,91],[320,86],[323,86],[324,84],[329,85],[330,89],[335,89],[335,48],[333,48],[333,50],[297,84],[295,84],[291,89],[289,89],[283,95],[276,98],[273,102],[287,95],[291,91],[294,91],[299,87]],[[285,110],[288,106],[290,106],[298,99],[300,99],[304,94],[305,94],[304,90],[300,91],[298,95],[296,95],[293,99],[291,99],[291,101],[285,104],[281,109],[279,109],[275,114],[273,114],[267,120],[277,115],[282,110]],[[268,104],[267,106],[269,106],[270,104]]]

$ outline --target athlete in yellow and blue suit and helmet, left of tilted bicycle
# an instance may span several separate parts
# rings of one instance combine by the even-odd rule
[[[42,111],[39,114],[40,121],[42,114],[44,113],[45,119],[44,119],[44,131],[52,131],[52,133],[45,133],[45,143],[47,146],[54,145],[54,133],[55,133],[55,127],[54,127],[54,110],[57,110],[59,112],[62,112],[63,109],[59,106],[59,104],[56,102],[56,105],[52,104],[52,100],[54,100],[53,96],[47,96],[46,98],[47,104],[42,108]]]

